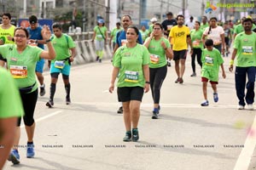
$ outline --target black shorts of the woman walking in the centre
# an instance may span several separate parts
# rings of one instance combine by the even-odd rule
[[[121,102],[143,100],[144,89],[142,87],[122,87],[118,88],[118,96]]]

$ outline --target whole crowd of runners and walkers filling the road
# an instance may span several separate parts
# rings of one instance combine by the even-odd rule
[[[153,110],[152,119],[160,114],[160,89],[165,81],[167,67],[174,60],[177,77],[174,83],[183,84],[185,62],[188,52],[191,55],[191,77],[201,75],[201,106],[209,105],[207,82],[212,86],[212,98],[218,102],[219,68],[225,78],[224,57],[230,57],[229,70],[236,65],[235,84],[238,109],[253,110],[254,82],[256,66],[256,26],[249,17],[240,23],[218,22],[203,16],[201,22],[190,17],[185,21],[183,15],[173,17],[166,14],[161,23],[152,18],[149,26],[132,26],[130,15],[122,16],[111,31],[109,44],[113,47],[113,71],[109,92],[113,93],[117,80],[117,95],[120,103],[118,113],[123,113],[125,137],[123,141],[139,139],[138,124],[143,94],[151,89]],[[61,24],[54,23],[53,33],[48,26],[39,26],[35,15],[29,17],[27,28],[12,26],[11,15],[2,15],[0,25],[0,169],[5,160],[20,163],[18,145],[20,140],[20,121],[24,120],[27,134],[26,157],[35,156],[33,119],[39,95],[44,96],[44,59],[48,59],[51,82],[49,84],[48,107],[54,106],[56,82],[61,73],[66,90],[66,104],[71,104],[71,83],[69,74],[71,62],[76,56],[72,37],[62,32]],[[96,61],[102,62],[104,45],[108,42],[108,28],[105,21],[97,20],[92,41],[96,44]],[[234,50],[230,51],[233,44]],[[44,50],[47,46],[47,50]],[[195,66],[195,59],[199,65]],[[5,69],[4,69],[5,68]],[[5,71],[7,70],[7,71]],[[38,82],[37,82],[37,79]],[[4,81],[3,81],[4,79]],[[5,82],[6,80],[6,82]],[[4,83],[9,85],[4,85]],[[245,91],[245,89],[247,90]],[[7,94],[8,93],[8,94]],[[9,95],[11,94],[11,95]],[[6,97],[8,95],[8,98]],[[4,99],[3,99],[4,97]],[[15,101],[15,102],[14,102]],[[10,102],[15,105],[8,105]],[[246,107],[247,105],[247,107]],[[17,117],[17,118],[15,118]],[[14,126],[16,123],[16,127]],[[9,152],[9,150],[11,150]]]

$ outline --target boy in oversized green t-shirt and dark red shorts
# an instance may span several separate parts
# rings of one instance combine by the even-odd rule
[[[206,48],[202,51],[202,69],[201,69],[201,82],[202,82],[202,91],[204,95],[204,101],[201,103],[201,106],[208,106],[209,101],[207,99],[207,82],[210,81],[213,90],[213,100],[218,102],[218,71],[219,65],[222,70],[222,77],[226,77],[224,71],[224,60],[221,57],[218,49],[213,48],[212,39],[207,39],[205,42]]]

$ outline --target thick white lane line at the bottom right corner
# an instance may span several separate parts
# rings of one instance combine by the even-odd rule
[[[256,146],[256,116],[254,117],[253,125],[248,129],[247,139],[244,148],[236,161],[234,170],[247,170],[250,166],[253,151]]]

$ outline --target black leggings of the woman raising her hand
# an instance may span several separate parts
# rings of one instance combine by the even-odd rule
[[[31,127],[34,121],[34,111],[38,101],[38,89],[29,94],[20,94],[24,109],[23,121],[28,127]],[[18,119],[17,126],[20,127],[21,118]]]

